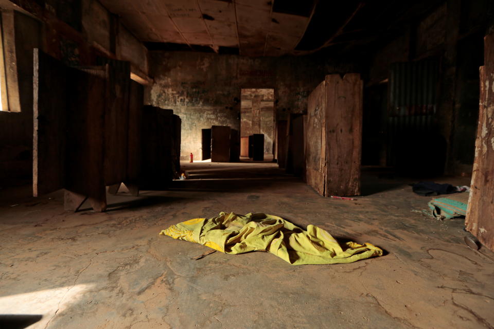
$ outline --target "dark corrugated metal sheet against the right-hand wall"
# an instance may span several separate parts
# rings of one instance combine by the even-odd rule
[[[437,60],[393,63],[389,80],[387,164],[396,165],[400,143],[435,130],[439,63]]]

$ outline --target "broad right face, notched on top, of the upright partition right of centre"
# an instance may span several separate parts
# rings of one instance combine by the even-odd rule
[[[362,153],[362,80],[326,76],[325,195],[359,195]]]

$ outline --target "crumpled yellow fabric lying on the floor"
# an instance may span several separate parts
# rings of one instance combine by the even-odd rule
[[[309,225],[305,231],[281,217],[264,213],[221,212],[218,217],[172,225],[160,234],[230,254],[268,251],[292,265],[352,263],[382,255],[382,250],[372,244],[339,244],[317,226]]]

